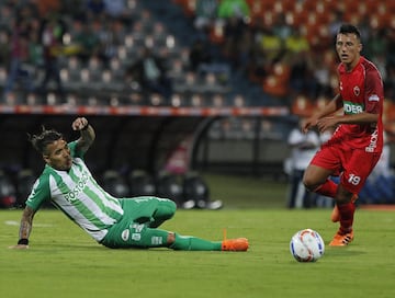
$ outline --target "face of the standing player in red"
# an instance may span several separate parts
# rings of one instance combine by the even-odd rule
[[[340,61],[348,69],[352,69],[359,61],[362,49],[361,42],[356,34],[338,34],[336,37],[336,50]]]

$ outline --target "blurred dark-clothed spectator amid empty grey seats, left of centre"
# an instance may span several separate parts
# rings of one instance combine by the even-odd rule
[[[172,81],[167,77],[166,62],[148,47],[144,47],[140,58],[126,69],[125,74],[128,80],[138,82],[143,91],[158,93],[169,100],[172,94]]]

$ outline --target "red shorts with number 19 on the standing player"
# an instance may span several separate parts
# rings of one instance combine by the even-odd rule
[[[348,146],[323,146],[311,163],[332,171],[334,175],[340,175],[340,184],[350,193],[358,194],[381,153],[346,147]]]

